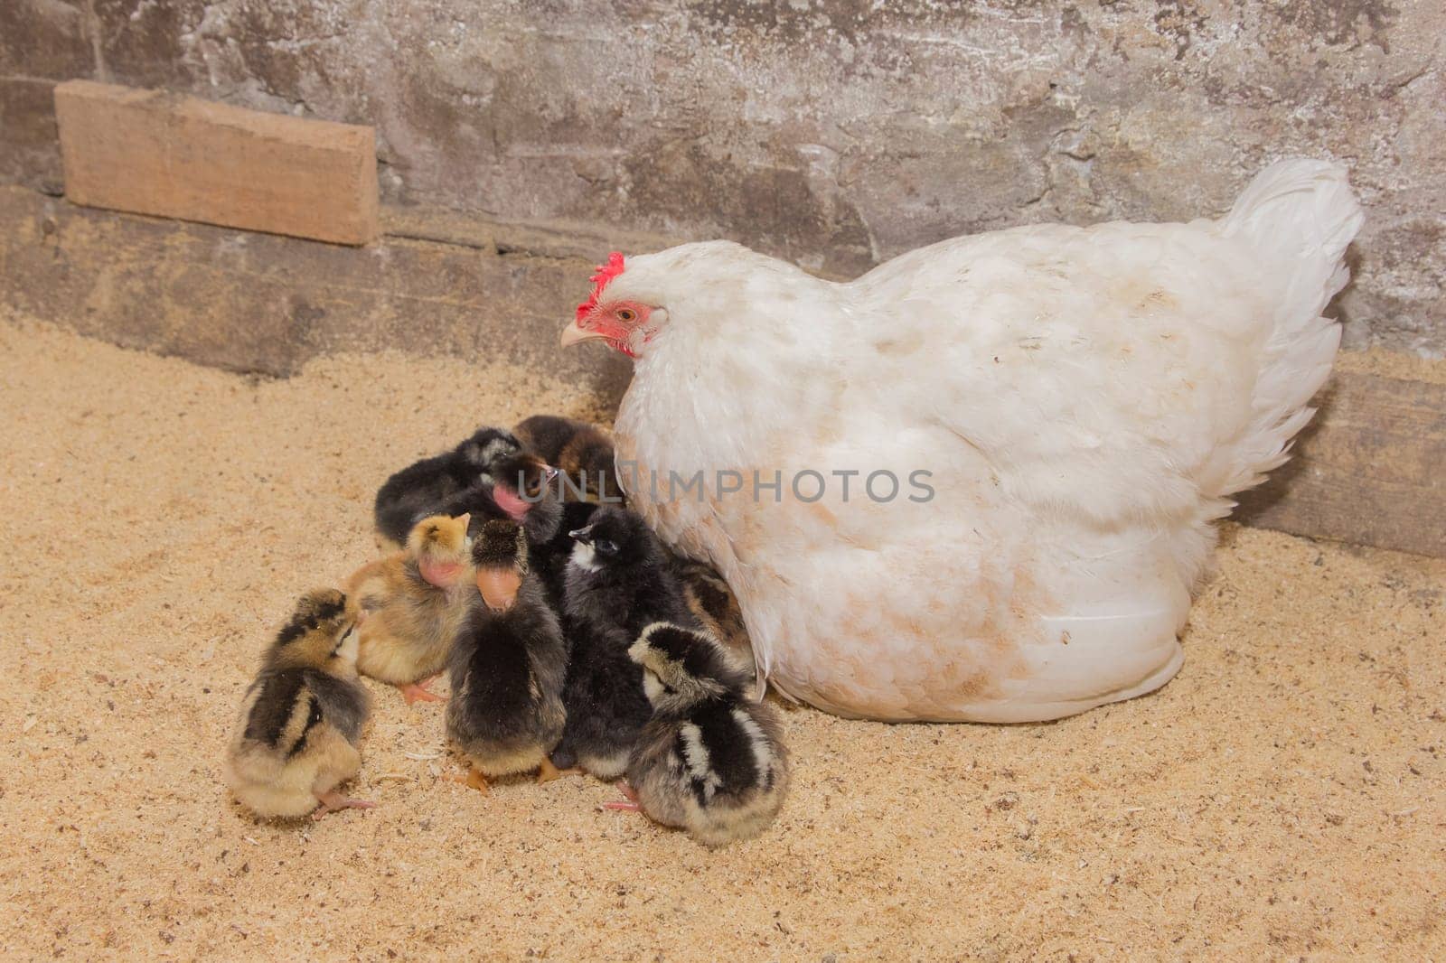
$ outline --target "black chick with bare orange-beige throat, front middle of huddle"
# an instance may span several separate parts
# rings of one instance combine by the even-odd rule
[[[466,782],[476,789],[532,769],[538,782],[554,779],[548,752],[567,720],[567,648],[557,615],[528,568],[528,539],[515,522],[486,522],[473,561],[482,597],[448,659],[447,735],[471,762]]]

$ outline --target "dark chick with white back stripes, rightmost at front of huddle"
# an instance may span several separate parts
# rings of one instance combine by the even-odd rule
[[[774,710],[755,703],[716,639],[656,623],[628,649],[642,665],[652,720],[628,763],[628,803],[707,846],[762,833],[788,792],[788,756]]]

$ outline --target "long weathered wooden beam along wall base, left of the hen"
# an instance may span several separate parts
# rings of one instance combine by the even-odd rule
[[[396,237],[341,247],[13,187],[0,187],[0,318],[13,308],[123,347],[276,377],[335,351],[505,360],[576,383],[600,416],[632,374],[602,344],[558,350],[594,260]]]

